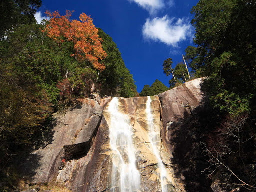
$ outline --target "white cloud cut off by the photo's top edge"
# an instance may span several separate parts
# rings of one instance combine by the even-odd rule
[[[165,6],[164,0],[129,0],[129,1],[137,3],[142,8],[148,10],[151,14],[155,13],[157,10],[160,10]]]

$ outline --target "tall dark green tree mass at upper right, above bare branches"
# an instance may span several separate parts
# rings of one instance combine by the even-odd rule
[[[212,105],[222,112],[238,115],[254,108],[255,9],[250,0],[220,0],[217,5],[201,0],[192,9],[198,65],[201,75],[210,77],[206,82]]]

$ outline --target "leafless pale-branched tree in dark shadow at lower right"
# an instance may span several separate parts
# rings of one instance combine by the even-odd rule
[[[255,173],[248,173],[251,171],[250,167],[245,165],[247,155],[253,155],[250,148],[246,147],[253,145],[253,136],[244,134],[248,128],[247,123],[248,115],[227,117],[214,133],[207,135],[207,144],[201,143],[210,163],[204,172],[208,173],[208,177],[212,177],[215,171],[222,169],[221,185],[225,189],[232,190],[237,186],[239,189],[255,189]]]

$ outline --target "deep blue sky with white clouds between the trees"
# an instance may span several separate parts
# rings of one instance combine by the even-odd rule
[[[190,10],[199,0],[42,0],[35,15],[45,10],[74,10],[72,19],[84,12],[91,15],[96,27],[102,28],[117,44],[137,91],[155,79],[169,87],[162,63],[172,58],[173,66],[181,61],[187,46],[193,45],[194,29]],[[41,13],[41,14],[40,14]]]

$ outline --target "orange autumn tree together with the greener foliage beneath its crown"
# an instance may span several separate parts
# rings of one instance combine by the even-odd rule
[[[73,56],[78,64],[72,71],[66,70],[65,75],[66,78],[70,77],[71,92],[75,91],[81,95],[93,92],[98,77],[94,78],[94,71],[88,68],[93,67],[99,75],[105,70],[105,65],[101,60],[107,56],[93,19],[82,13],[79,17],[80,21],[70,20],[72,11],[69,10],[64,16],[61,16],[58,11],[46,11],[45,13],[51,18],[43,30],[47,36],[56,41],[59,46],[65,42],[73,43],[74,51],[70,53],[70,56]],[[85,91],[88,87],[90,91]]]

